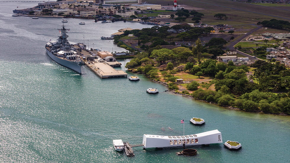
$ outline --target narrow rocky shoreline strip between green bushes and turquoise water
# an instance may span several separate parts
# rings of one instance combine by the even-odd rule
[[[157,80],[151,80],[155,83],[160,83],[162,85],[165,85],[167,88],[168,88],[168,84],[166,82],[162,82],[162,81],[157,81]],[[178,95],[181,95],[181,96],[186,96],[186,97],[189,97],[191,99],[194,99],[194,100],[198,100],[198,101],[202,101],[202,102],[206,102],[208,104],[216,104],[218,105],[217,103],[214,103],[214,102],[207,102],[205,100],[201,100],[201,99],[196,99],[194,98],[193,96],[189,95],[189,94],[183,94],[183,93],[179,93],[179,92],[175,92],[173,90],[169,90],[172,94],[178,94]],[[219,105],[218,105],[219,106]],[[244,111],[244,112],[250,112],[250,111],[245,111],[244,109],[240,109],[240,108],[236,108],[236,107],[233,107],[233,106],[220,106],[220,107],[223,107],[223,108],[227,108],[227,109],[233,109],[233,110],[239,110],[239,111]],[[263,114],[273,114],[273,115],[282,115],[282,116],[290,116],[286,113],[279,113],[279,114],[274,114],[274,113],[265,113],[261,110],[255,110],[255,111],[252,111],[251,113],[263,113]]]

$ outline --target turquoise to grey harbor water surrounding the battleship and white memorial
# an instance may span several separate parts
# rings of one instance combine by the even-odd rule
[[[44,45],[56,38],[61,19],[11,16],[16,6],[31,7],[35,2],[0,4],[0,162],[290,162],[289,116],[195,101],[164,92],[164,85],[143,75],[138,75],[138,82],[100,79],[86,67],[78,75],[45,53]],[[145,27],[115,22],[99,28],[102,24],[91,20],[68,20],[70,41],[82,42],[84,34],[103,50],[114,45],[101,42],[99,36]],[[78,25],[83,21],[86,25]],[[160,93],[147,94],[149,87]],[[191,125],[192,117],[204,118],[206,124]],[[112,147],[113,139],[142,143],[143,134],[183,135],[183,118],[185,134],[218,129],[223,142],[239,141],[243,148],[229,151],[221,143],[194,146],[198,155],[188,157],[175,155],[182,148],[135,147],[136,156],[127,157]]]

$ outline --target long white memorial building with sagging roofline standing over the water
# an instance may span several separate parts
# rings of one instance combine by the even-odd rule
[[[162,148],[176,146],[193,146],[201,144],[223,143],[222,134],[218,130],[207,131],[193,135],[184,136],[161,136],[148,135],[143,136],[143,148]]]

